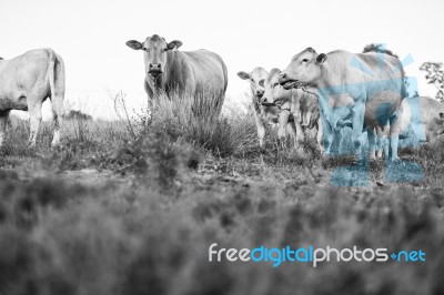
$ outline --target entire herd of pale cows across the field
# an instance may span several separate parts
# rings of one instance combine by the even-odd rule
[[[159,95],[211,95],[212,108],[220,113],[228,85],[220,55],[203,49],[180,51],[181,41],[167,42],[158,34],[127,45],[143,51],[144,90],[151,106]],[[371,159],[396,160],[400,139],[431,141],[444,133],[444,105],[430,98],[406,98],[403,65],[389,54],[343,50],[325,54],[307,48],[283,71],[258,67],[238,75],[250,84],[261,146],[268,125],[279,124],[279,138],[290,134],[295,148],[307,130],[315,129],[323,154],[341,153],[343,130],[350,128],[353,152],[360,159],[366,135]],[[29,146],[36,145],[41,106],[48,98],[54,119],[52,145],[58,145],[64,98],[62,58],[51,49],[0,58],[0,146],[11,110],[29,111]]]

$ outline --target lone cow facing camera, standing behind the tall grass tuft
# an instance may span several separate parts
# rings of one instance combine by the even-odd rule
[[[167,42],[158,34],[148,37],[144,42],[130,40],[127,45],[144,51],[144,89],[151,104],[161,93],[170,98],[180,93],[211,99],[212,108],[220,113],[228,75],[225,63],[216,53],[204,49],[179,51],[181,41]]]

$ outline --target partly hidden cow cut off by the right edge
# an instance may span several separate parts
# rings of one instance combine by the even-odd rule
[[[433,142],[444,133],[444,104],[426,96],[404,99],[400,139]]]

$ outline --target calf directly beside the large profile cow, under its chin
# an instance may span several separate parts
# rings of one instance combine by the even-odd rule
[[[286,126],[290,123],[290,131],[294,139],[294,146],[304,141],[305,129],[317,126],[319,108],[316,96],[305,93],[302,90],[285,90],[279,83],[281,70],[272,69],[266,79],[260,81],[265,89],[262,96],[262,105],[278,106],[279,113],[279,136],[286,136]]]

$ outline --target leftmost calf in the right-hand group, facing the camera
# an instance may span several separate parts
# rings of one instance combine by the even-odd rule
[[[265,69],[261,67],[254,68],[250,73],[244,71],[238,73],[239,78],[248,80],[250,83],[253,114],[260,146],[264,145],[265,125],[268,123],[278,123],[279,120],[279,109],[276,106],[264,106],[260,101],[265,90],[259,84],[259,81],[265,79],[268,74]]]

